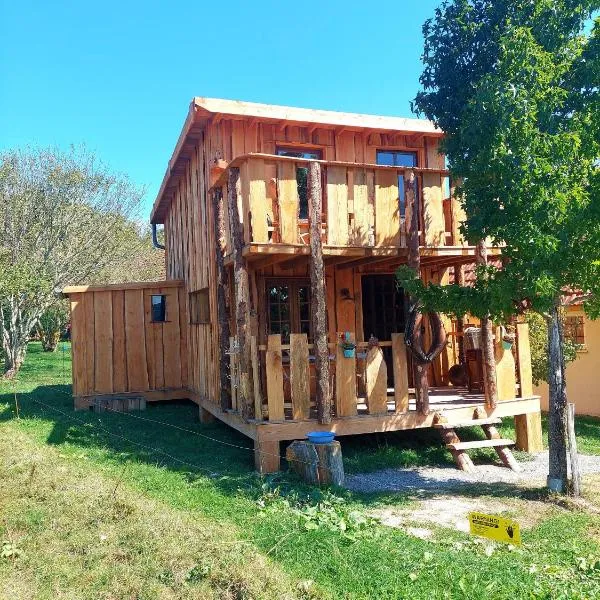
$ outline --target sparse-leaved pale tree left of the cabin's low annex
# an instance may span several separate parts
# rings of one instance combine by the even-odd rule
[[[30,332],[67,284],[127,264],[143,244],[142,198],[85,149],[0,155],[0,335],[4,374],[19,370]]]

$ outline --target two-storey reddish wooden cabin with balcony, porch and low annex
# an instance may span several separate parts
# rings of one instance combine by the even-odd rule
[[[469,388],[451,385],[462,331],[444,317],[429,406],[415,404],[395,270],[411,239],[425,281],[462,281],[475,260],[442,135],[424,120],[194,98],[151,215],[164,226],[167,281],[65,290],[76,406],[190,398],[202,419],[254,440],[262,472],[279,468],[280,441],[312,430],[514,417],[517,445],[539,450],[526,324],[512,348],[495,336],[492,406],[476,354]],[[342,339],[356,343],[354,356]]]

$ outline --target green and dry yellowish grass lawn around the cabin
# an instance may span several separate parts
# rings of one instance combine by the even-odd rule
[[[198,423],[191,404],[75,413],[70,394],[68,347],[32,344],[18,381],[0,383],[2,598],[600,597],[590,503],[486,488],[478,501],[501,498],[516,516],[544,502],[522,547],[443,527],[423,540],[369,516],[414,497],[260,478],[249,440]],[[578,433],[600,454],[600,421],[579,419]],[[342,447],[348,471],[450,462],[427,432]],[[600,481],[587,486],[597,496]]]

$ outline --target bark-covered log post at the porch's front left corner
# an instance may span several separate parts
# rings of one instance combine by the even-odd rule
[[[238,187],[240,170],[229,169],[227,180],[227,205],[229,214],[229,231],[233,246],[233,274],[235,279],[235,321],[236,336],[239,347],[240,382],[238,406],[242,418],[248,419],[254,412],[252,400],[252,364],[250,359],[250,287],[248,267],[242,256],[244,232],[240,223],[238,210]]]

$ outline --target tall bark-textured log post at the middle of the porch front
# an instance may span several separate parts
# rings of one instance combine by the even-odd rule
[[[311,161],[308,166],[308,216],[310,220],[310,291],[317,378],[317,417],[319,423],[326,425],[331,423],[331,389],[329,386],[325,267],[323,266],[323,243],[321,242],[322,198],[321,165]]]

